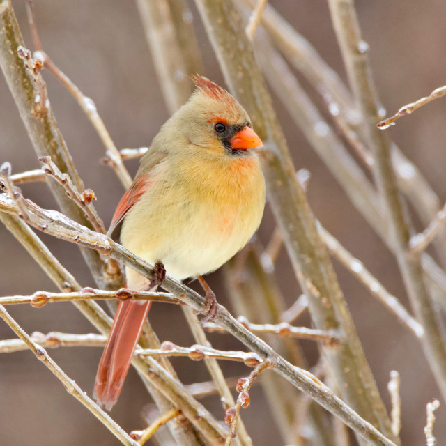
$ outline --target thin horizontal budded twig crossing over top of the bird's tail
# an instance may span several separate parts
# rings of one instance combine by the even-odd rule
[[[80,293],[50,293],[49,291],[36,291],[33,295],[13,295],[0,298],[0,305],[30,304],[32,307],[43,307],[50,302],[72,302],[75,300],[151,300],[153,302],[165,302],[179,304],[180,301],[170,293],[144,293],[129,289],[116,291],[96,290],[92,288],[82,289]]]

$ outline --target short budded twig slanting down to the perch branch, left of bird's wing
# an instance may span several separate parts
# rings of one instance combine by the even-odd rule
[[[72,180],[68,174],[62,174],[59,168],[52,162],[50,156],[43,156],[39,158],[39,161],[43,164],[43,171],[45,174],[54,178],[57,183],[62,185],[66,191],[66,194],[70,199],[75,201],[77,206],[81,208],[86,217],[89,219],[96,232],[105,234],[104,222],[100,219],[91,201],[96,199],[93,190],[86,189],[83,192],[79,192],[77,187],[72,183]]]

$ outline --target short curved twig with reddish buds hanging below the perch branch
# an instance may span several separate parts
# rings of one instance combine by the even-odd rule
[[[232,440],[236,438],[236,427],[240,417],[240,408],[245,409],[249,406],[249,389],[251,388],[252,383],[254,383],[254,380],[259,377],[259,374],[261,374],[263,370],[268,369],[268,367],[274,367],[273,362],[268,359],[263,360],[256,365],[249,376],[246,378],[240,378],[237,381],[236,390],[238,392],[238,398],[236,406],[229,408],[224,414],[224,422],[226,422],[226,424],[231,424],[231,429],[229,429],[229,435],[226,438],[224,446],[230,446],[232,444]]]

